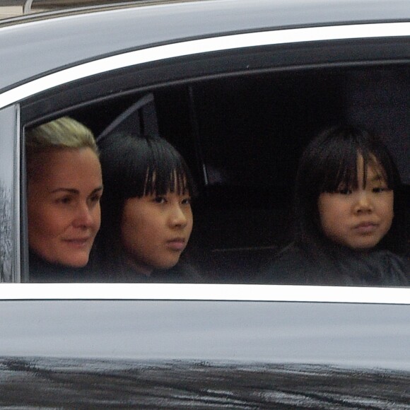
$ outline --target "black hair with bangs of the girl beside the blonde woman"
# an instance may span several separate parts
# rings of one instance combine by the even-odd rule
[[[104,192],[101,227],[96,238],[98,252],[113,265],[121,252],[120,223],[129,198],[194,195],[194,182],[180,153],[160,136],[112,134],[100,141]]]

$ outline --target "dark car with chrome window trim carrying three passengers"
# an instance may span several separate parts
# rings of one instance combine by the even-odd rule
[[[1,405],[410,408],[408,288],[249,284],[327,125],[384,135],[409,198],[408,1],[64,8],[0,21],[0,61]],[[129,112],[194,174],[209,283],[25,283],[25,130]]]

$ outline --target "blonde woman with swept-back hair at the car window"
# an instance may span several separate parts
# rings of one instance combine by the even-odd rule
[[[76,281],[100,228],[102,175],[92,132],[61,117],[25,133],[30,281]]]

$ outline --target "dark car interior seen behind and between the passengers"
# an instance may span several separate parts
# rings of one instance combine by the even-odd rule
[[[291,240],[298,159],[324,127],[349,122],[380,134],[410,203],[409,74],[405,64],[241,72],[130,89],[61,113],[100,138],[138,127],[168,139],[197,182],[189,257],[210,281],[250,283]]]

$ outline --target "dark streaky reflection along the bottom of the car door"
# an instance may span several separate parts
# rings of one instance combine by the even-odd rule
[[[36,392],[37,406],[133,406],[156,409],[303,406],[320,409],[406,409],[409,376],[400,371],[351,370],[327,365],[252,365],[206,361],[147,362],[90,359],[0,360],[11,391],[5,406],[26,402]],[[54,375],[54,373],[56,373]],[[50,375],[53,375],[50,380]],[[21,389],[13,392],[18,377]],[[346,387],[345,381],[354,385]],[[0,375],[1,380],[1,375]],[[187,387],[187,380],[192,380]],[[250,382],[252,380],[252,382]],[[96,389],[95,386],[109,386]],[[147,389],[146,386],[149,386]],[[64,386],[64,387],[63,387]],[[81,392],[78,387],[81,386]],[[113,397],[121,397],[113,401]],[[399,399],[397,399],[399,397]]]

